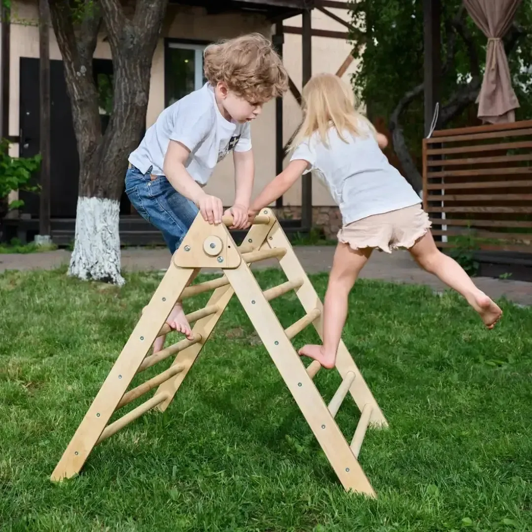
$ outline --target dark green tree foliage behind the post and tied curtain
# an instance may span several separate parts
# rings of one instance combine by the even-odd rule
[[[474,72],[464,39],[452,24],[462,5],[461,0],[442,2],[442,67],[440,89],[445,106],[452,96],[467,86]],[[388,119],[400,99],[423,82],[423,11],[422,2],[404,0],[360,0],[351,4],[355,42],[366,45],[355,48],[355,59],[362,59],[352,76],[352,84],[359,99],[368,105],[371,117]],[[487,39],[465,12],[461,18],[465,35],[470,36],[478,57],[480,73],[484,71]],[[523,2],[516,14],[516,22],[532,35],[532,4]],[[454,42],[454,45],[452,44]],[[516,119],[532,116],[532,39],[520,37],[509,54],[513,87],[520,108]],[[476,104],[472,103],[476,114]],[[471,109],[470,109],[471,110]],[[440,109],[441,112],[441,109]],[[455,117],[447,127],[459,126],[467,120],[467,111]],[[423,96],[416,98],[401,117],[404,134],[413,156],[421,151],[423,135]]]

